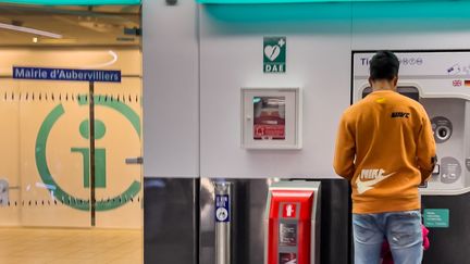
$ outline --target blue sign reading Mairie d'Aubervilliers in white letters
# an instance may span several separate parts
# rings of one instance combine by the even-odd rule
[[[13,67],[14,79],[121,83],[121,71]]]

